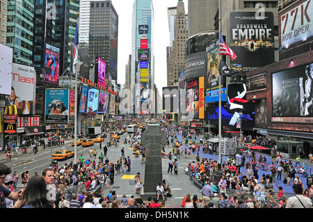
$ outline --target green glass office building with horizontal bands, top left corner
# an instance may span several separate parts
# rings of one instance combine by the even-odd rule
[[[6,45],[13,48],[13,62],[33,62],[34,0],[8,1]]]

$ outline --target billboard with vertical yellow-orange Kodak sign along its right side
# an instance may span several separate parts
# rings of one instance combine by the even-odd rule
[[[188,117],[204,118],[204,77],[199,77],[186,84],[186,111]]]

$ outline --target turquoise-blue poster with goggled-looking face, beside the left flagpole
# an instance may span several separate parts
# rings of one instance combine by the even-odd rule
[[[46,89],[45,122],[65,123],[69,116],[69,90]]]

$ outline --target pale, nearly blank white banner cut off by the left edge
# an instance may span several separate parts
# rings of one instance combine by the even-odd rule
[[[0,44],[1,56],[0,59],[0,94],[11,94],[12,82],[12,63],[13,63],[13,49],[6,45]]]

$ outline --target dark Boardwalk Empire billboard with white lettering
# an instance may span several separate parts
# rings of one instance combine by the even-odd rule
[[[274,63],[273,13],[264,12],[263,17],[256,17],[255,14],[255,12],[230,13],[228,47],[237,56],[230,66],[238,71],[239,75]]]

